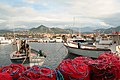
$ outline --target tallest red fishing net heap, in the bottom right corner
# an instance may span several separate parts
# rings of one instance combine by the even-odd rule
[[[120,79],[120,60],[113,53],[101,54],[97,60],[91,62],[91,67],[93,80]]]

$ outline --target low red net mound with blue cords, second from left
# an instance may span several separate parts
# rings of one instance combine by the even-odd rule
[[[56,80],[56,73],[48,67],[29,67],[21,74],[19,80]]]

